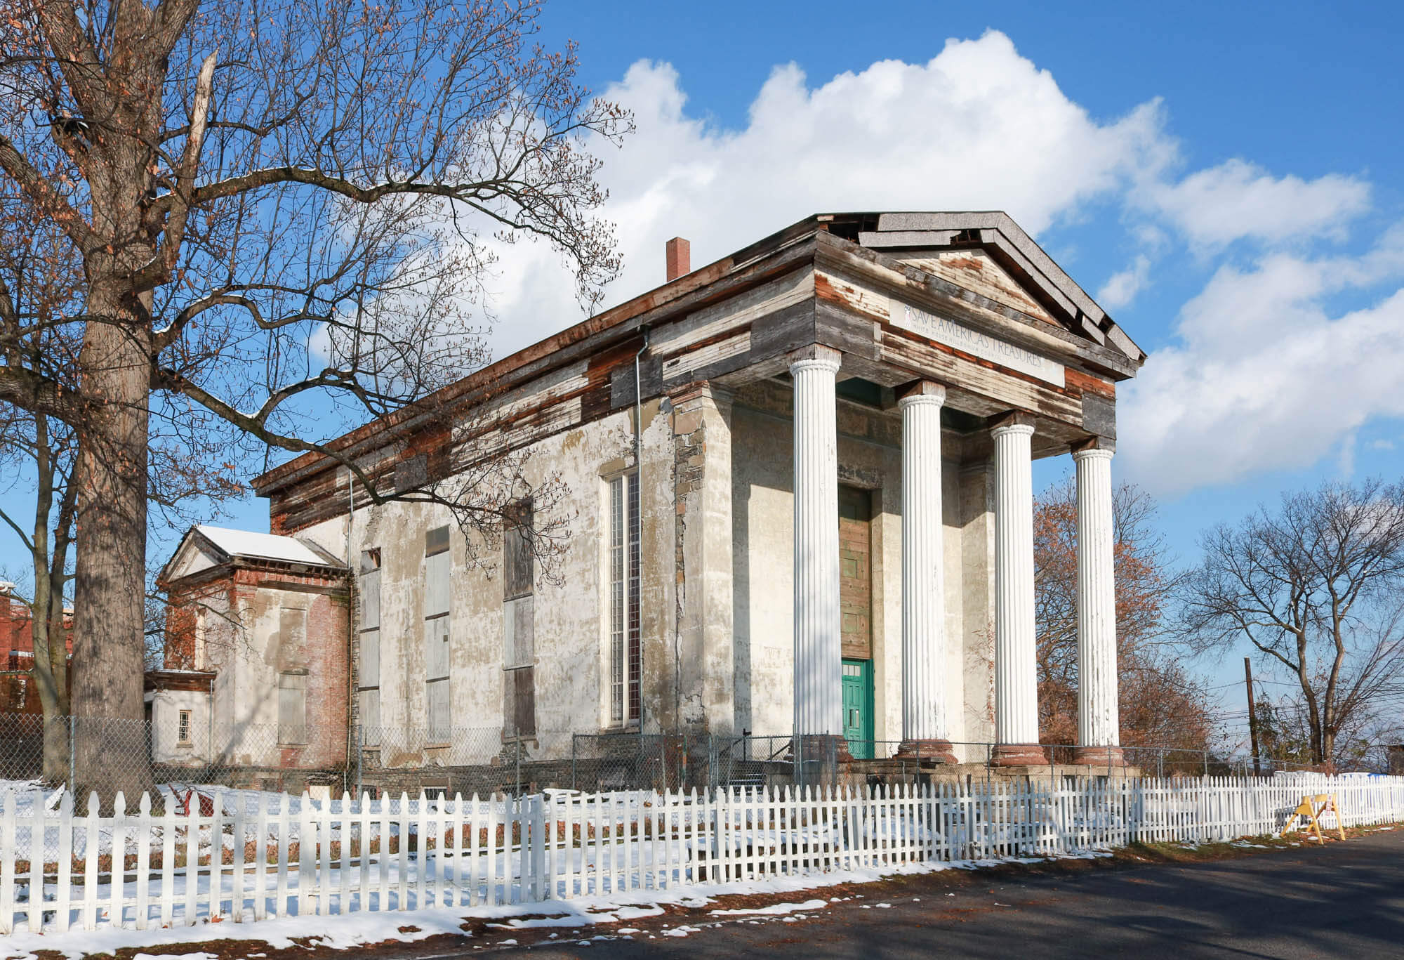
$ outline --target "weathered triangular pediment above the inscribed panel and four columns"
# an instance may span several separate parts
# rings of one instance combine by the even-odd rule
[[[876,223],[873,223],[873,219]],[[993,303],[1116,351],[1140,366],[1146,352],[1007,213],[878,213],[859,244]]]

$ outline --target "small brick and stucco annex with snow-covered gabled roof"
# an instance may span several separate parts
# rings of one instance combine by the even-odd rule
[[[345,759],[345,564],[292,536],[191,528],[160,573],[152,755],[174,766],[329,769]]]

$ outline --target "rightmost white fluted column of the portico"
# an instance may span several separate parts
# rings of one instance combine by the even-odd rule
[[[1077,742],[1080,764],[1120,764],[1116,705],[1116,584],[1112,451],[1075,451]]]

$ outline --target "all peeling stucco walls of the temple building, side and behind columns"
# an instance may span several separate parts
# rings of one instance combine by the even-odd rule
[[[633,408],[538,442],[528,480],[550,470],[571,516],[560,582],[535,584],[532,756],[569,754],[570,733],[609,728],[608,481],[635,466]],[[840,403],[840,483],[872,491],[875,735],[901,738],[901,421],[896,411]],[[640,500],[642,709],[644,730],[789,733],[792,671],[792,429],[789,392],[761,383],[736,393],[674,392],[643,407]],[[952,442],[951,449],[959,449]],[[536,472],[536,473],[532,473]],[[988,463],[945,462],[948,698],[952,737],[991,734],[993,514]],[[503,714],[500,549],[470,566],[446,508],[392,502],[357,511],[351,563],[380,550],[380,719],[386,728],[427,724],[424,535],[451,526],[452,723],[484,762]],[[347,550],[345,518],[305,531]],[[267,627],[260,627],[267,629]],[[403,738],[396,762],[434,762]],[[388,745],[386,749],[390,749]],[[459,754],[461,762],[469,759]]]

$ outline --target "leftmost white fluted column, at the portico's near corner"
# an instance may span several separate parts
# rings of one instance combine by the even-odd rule
[[[844,733],[838,612],[840,354],[790,364],[795,378],[795,733]]]

